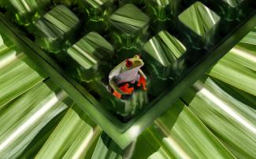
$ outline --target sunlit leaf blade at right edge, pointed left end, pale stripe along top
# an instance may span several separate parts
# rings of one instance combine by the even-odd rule
[[[209,74],[213,78],[256,96],[255,58],[255,52],[245,52],[235,47],[209,71]]]

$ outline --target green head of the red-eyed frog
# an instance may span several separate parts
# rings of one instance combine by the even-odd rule
[[[135,55],[130,59],[124,60],[122,71],[124,70],[133,70],[135,68],[143,67],[144,63],[140,56]]]

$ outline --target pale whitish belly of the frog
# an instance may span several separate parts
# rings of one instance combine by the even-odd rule
[[[117,81],[117,84],[124,83],[124,82],[132,82],[139,80],[139,74],[138,74],[139,68],[135,68],[132,70],[124,71],[123,73],[118,75],[118,78],[120,78],[120,81]]]

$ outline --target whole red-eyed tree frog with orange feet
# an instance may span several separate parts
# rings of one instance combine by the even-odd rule
[[[130,59],[124,60],[110,71],[109,85],[113,89],[113,96],[120,99],[122,95],[131,95],[134,88],[130,87],[129,84],[135,84],[136,81],[138,82],[138,87],[142,86],[143,90],[147,90],[147,77],[140,69],[143,65],[144,63],[140,56],[135,55]]]

